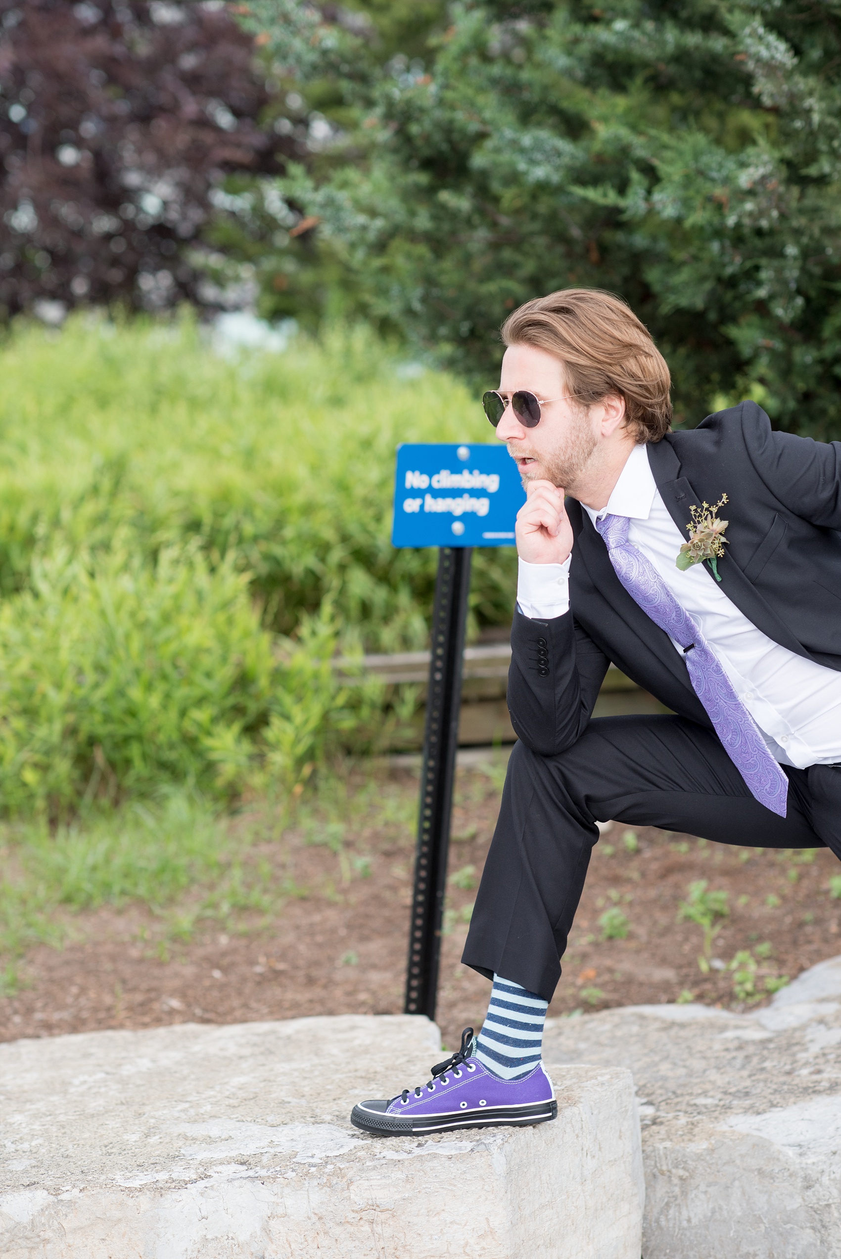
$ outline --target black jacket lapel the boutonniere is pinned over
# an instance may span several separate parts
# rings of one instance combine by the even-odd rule
[[[691,507],[692,505],[700,507],[704,501],[703,496],[695,492],[686,476],[681,476],[684,468],[669,438],[663,438],[663,441],[655,442],[653,444],[650,443],[646,449],[648,452],[651,471],[660,490],[660,497],[680,529],[681,536],[689,538],[686,526],[691,524]],[[738,507],[735,510],[738,511]],[[738,522],[734,520],[734,509],[731,505],[728,505],[728,515],[733,524],[738,526]],[[798,656],[803,656],[807,660],[812,658],[811,653],[792,635],[788,626],[779,619],[773,608],[757,593],[726,550],[724,558],[719,562],[718,569],[721,578],[721,589],[737,608],[744,613],[748,621],[755,624],[757,630],[762,630],[774,642],[778,642],[782,647],[788,647],[789,651],[796,652]],[[704,564],[704,572],[710,582],[715,582],[706,564]]]

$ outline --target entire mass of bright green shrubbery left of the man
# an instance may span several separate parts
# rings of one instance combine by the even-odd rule
[[[426,642],[394,448],[492,437],[465,389],[364,330],[232,360],[189,317],[19,326],[0,363],[0,808],[286,796],[376,747],[380,684],[330,661]],[[477,554],[473,628],[514,584],[512,551]]]

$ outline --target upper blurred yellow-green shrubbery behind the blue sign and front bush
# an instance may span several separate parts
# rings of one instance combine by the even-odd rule
[[[267,628],[330,599],[344,647],[426,645],[436,551],[390,545],[394,451],[494,441],[453,379],[405,378],[363,330],[229,361],[186,317],[21,326],[0,361],[0,592],[29,585],[39,548],[110,549],[122,528],[145,556],[196,539],[227,558]],[[473,624],[510,619],[514,550],[473,567]]]

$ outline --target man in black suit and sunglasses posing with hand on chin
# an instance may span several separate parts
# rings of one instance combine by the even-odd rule
[[[494,981],[488,1016],[442,1065],[472,1058],[511,1094],[491,1122],[533,1123],[599,821],[841,856],[841,443],[776,433],[752,402],[671,432],[666,363],[608,293],[528,302],[502,339],[485,409],[528,491],[520,742],[462,957]],[[592,719],[611,662],[674,715]],[[449,1089],[397,1110],[481,1123]]]

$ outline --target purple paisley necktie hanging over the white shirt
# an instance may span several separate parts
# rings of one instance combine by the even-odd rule
[[[595,521],[616,575],[655,624],[684,648],[695,694],[750,793],[765,808],[786,817],[788,778],[689,612],[681,608],[651,560],[628,541],[629,526],[627,516],[604,516]]]

